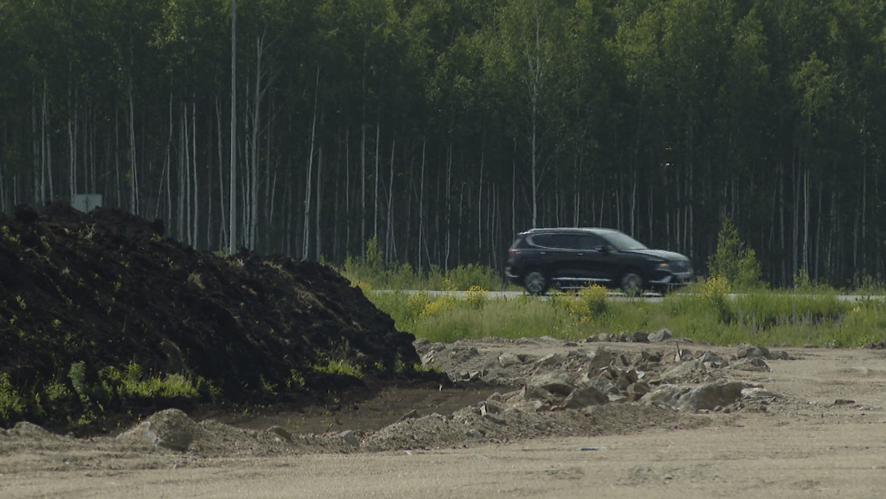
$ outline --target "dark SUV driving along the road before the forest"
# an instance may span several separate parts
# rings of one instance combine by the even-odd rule
[[[636,295],[692,281],[692,262],[680,254],[649,249],[611,229],[532,229],[520,232],[508,251],[505,275],[532,294],[548,287],[588,284]]]

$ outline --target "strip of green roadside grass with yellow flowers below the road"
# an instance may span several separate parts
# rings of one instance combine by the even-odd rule
[[[831,289],[756,291],[734,300],[727,287],[699,285],[658,303],[601,301],[599,290],[555,294],[549,300],[456,300],[419,292],[368,292],[398,329],[418,338],[584,339],[597,332],[658,331],[711,344],[859,347],[886,336],[886,302],[839,300]]]

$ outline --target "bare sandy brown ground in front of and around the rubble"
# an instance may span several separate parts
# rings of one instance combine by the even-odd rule
[[[486,339],[440,347],[434,363],[455,377],[479,371],[487,382],[510,386],[389,390],[338,418],[317,409],[204,421],[204,437],[185,452],[112,436],[81,441],[22,425],[0,433],[0,497],[886,495],[882,351],[787,349],[798,360],[767,360],[770,371],[711,369],[715,378],[756,383],[777,395],[728,413],[613,402],[581,410],[512,409],[494,424],[479,416],[478,402],[517,390],[531,370],[538,374],[530,361],[600,346],[628,357],[642,350],[662,354],[660,369],[650,368],[649,377],[682,363],[673,359],[673,341]],[[723,357],[736,350],[683,347]],[[506,370],[498,363],[506,352],[529,360]],[[410,409],[420,417],[392,424]],[[270,425],[292,434],[265,431]],[[320,434],[329,425],[334,433],[354,430],[360,445]]]

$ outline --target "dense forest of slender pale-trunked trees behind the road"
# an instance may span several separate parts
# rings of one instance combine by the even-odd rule
[[[605,226],[700,273],[728,216],[769,284],[859,285],[884,5],[4,0],[0,207],[101,194],[199,250],[413,269]]]

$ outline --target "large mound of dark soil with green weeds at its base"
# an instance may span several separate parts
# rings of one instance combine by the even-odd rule
[[[101,419],[145,391],[157,409],[154,395],[181,398],[169,375],[190,398],[270,402],[359,383],[343,366],[385,378],[418,362],[412,335],[333,269],[199,253],[162,230],[61,204],[0,215],[0,425]]]

